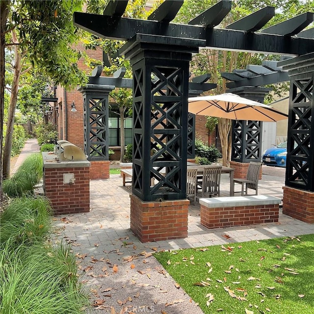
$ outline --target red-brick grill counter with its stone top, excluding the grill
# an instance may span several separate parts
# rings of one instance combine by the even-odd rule
[[[43,152],[44,191],[50,199],[54,214],[69,214],[89,211],[88,160],[57,161],[53,153]],[[64,183],[64,175],[73,174],[73,182]]]

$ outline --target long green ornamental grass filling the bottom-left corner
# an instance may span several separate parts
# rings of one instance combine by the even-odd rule
[[[88,304],[70,246],[48,241],[50,212],[44,198],[15,199],[1,212],[1,314],[79,314]]]

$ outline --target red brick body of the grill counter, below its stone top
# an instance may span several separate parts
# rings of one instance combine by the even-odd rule
[[[63,174],[73,173],[74,184],[63,183]],[[89,211],[89,167],[44,168],[45,196],[55,214]]]

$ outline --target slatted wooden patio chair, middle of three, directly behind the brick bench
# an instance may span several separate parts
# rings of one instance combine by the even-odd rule
[[[208,195],[220,196],[220,177],[221,166],[205,166],[203,171],[202,182],[198,182],[197,185],[202,189],[202,197]]]

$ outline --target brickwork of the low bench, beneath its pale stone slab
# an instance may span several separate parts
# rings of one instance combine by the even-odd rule
[[[208,208],[201,205],[201,225],[211,229],[277,222],[279,204]]]

